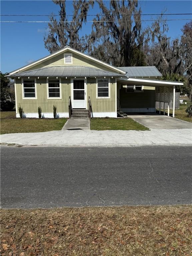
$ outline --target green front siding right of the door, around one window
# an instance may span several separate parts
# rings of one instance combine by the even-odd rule
[[[96,79],[87,79],[87,100],[90,96],[93,112],[116,112],[115,78],[110,79],[110,99],[96,98]]]

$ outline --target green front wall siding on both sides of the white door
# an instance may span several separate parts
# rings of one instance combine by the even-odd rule
[[[37,113],[41,106],[42,113],[52,113],[53,105],[57,106],[58,113],[68,112],[68,101],[71,96],[70,79],[61,79],[62,99],[47,99],[46,78],[36,79],[37,99],[22,99],[21,79],[16,79],[17,106],[20,104],[24,113]],[[110,79],[110,99],[96,99],[96,79],[87,79],[87,106],[88,96],[91,98],[93,112],[116,112],[115,108],[115,78]]]

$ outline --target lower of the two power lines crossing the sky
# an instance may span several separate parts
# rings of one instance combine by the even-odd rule
[[[171,19],[171,20],[140,20],[140,21],[175,21],[175,20],[191,20],[191,19]],[[119,22],[128,22],[132,21],[135,22],[135,20],[121,20]],[[54,23],[54,22],[59,22],[59,23],[72,23],[75,21],[0,21],[1,23]],[[80,21],[80,22],[116,22],[115,20],[88,20],[88,21]]]

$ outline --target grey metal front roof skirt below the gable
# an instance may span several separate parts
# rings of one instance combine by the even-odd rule
[[[10,77],[94,77],[94,76],[120,76],[126,77],[125,75],[112,73],[110,71],[86,67],[86,66],[54,66],[44,67],[40,69],[33,69],[21,73],[10,75]]]

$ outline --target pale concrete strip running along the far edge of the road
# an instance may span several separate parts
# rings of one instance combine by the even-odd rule
[[[143,145],[191,145],[191,129],[150,131],[51,131],[1,135],[2,144],[45,146],[121,147]]]

